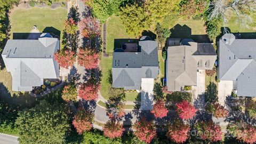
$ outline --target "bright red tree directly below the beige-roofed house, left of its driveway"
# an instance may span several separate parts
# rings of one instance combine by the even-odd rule
[[[179,114],[181,119],[190,119],[196,115],[197,109],[190,105],[190,103],[186,100],[177,103],[177,113]]]

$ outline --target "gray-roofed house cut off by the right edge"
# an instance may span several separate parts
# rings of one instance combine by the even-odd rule
[[[218,78],[232,81],[238,96],[256,96],[256,39],[237,39],[225,34],[218,43]],[[231,93],[231,92],[230,92]]]

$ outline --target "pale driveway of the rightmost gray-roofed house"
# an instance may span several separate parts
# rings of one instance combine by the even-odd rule
[[[218,83],[218,98],[222,106],[225,106],[226,97],[231,95],[233,90],[233,81],[220,81]]]

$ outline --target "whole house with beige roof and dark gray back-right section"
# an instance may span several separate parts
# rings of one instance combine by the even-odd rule
[[[197,71],[212,69],[217,54],[210,43],[193,39],[167,39],[166,86],[168,91],[182,91],[197,85]]]

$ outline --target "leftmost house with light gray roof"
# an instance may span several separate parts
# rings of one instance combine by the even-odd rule
[[[50,34],[38,39],[9,39],[2,58],[12,75],[12,90],[31,91],[43,85],[44,78],[58,78],[59,64],[53,55],[59,49],[60,41]]]

